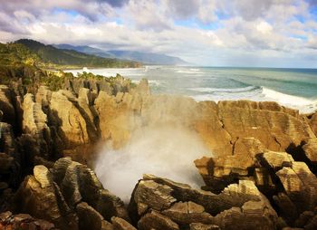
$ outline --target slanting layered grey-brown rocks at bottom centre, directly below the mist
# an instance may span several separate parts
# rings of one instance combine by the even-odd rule
[[[206,229],[274,229],[277,222],[269,201],[247,180],[216,195],[144,175],[132,193],[129,210],[139,229],[198,229],[197,223]]]

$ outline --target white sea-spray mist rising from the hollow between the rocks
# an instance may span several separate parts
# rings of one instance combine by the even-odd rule
[[[204,182],[194,160],[203,156],[211,154],[194,130],[177,125],[146,127],[134,131],[122,149],[114,150],[105,145],[94,169],[103,187],[129,202],[143,174],[201,187]]]

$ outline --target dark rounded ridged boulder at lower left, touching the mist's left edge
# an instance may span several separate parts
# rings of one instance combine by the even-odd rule
[[[123,202],[102,187],[91,168],[71,158],[60,158],[53,167],[53,180],[61,187],[62,196],[69,206],[87,202],[107,221],[112,216],[129,220]]]

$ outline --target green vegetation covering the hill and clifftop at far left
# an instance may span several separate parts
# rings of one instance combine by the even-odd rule
[[[123,79],[104,78],[91,72],[62,72],[65,68],[87,67],[137,67],[139,62],[101,58],[70,50],[60,50],[33,40],[19,40],[15,43],[0,43],[0,84],[14,85],[20,82],[27,91],[36,91],[40,85],[48,86],[52,91],[63,88],[65,81],[72,79],[108,81],[114,86]],[[130,82],[133,87],[133,84]]]

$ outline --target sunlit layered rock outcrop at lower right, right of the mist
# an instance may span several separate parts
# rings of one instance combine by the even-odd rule
[[[196,160],[207,189],[219,192],[238,179],[253,181],[277,207],[278,215],[287,225],[316,228],[317,178],[307,164],[295,161],[286,152],[267,150],[257,139],[243,139],[243,143],[247,148],[241,154]],[[317,154],[313,143],[308,141],[304,146],[310,159]]]

